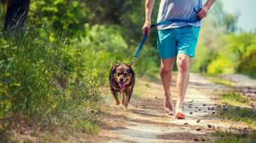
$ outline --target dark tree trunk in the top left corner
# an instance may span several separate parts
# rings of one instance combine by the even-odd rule
[[[5,26],[7,28],[22,28],[28,15],[30,0],[8,0]]]

